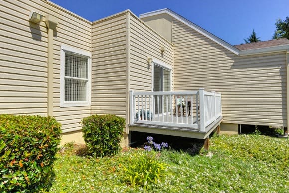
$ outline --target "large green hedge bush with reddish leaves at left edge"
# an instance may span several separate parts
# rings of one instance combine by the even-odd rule
[[[49,190],[60,128],[53,117],[0,115],[0,192]]]

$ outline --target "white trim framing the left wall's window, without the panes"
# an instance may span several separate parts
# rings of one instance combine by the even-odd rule
[[[88,58],[88,85],[86,101],[65,101],[65,51],[83,55]],[[60,46],[60,107],[79,107],[91,105],[91,52],[61,44]]]

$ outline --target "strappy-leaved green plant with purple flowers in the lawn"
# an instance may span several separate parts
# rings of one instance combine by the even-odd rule
[[[146,187],[148,184],[160,182],[164,175],[169,174],[165,171],[166,164],[158,161],[156,151],[168,147],[167,143],[161,145],[153,141],[152,137],[147,137],[147,144],[144,146],[145,153],[135,154],[128,167],[123,167],[125,180],[132,186]],[[158,152],[159,153],[159,152]]]

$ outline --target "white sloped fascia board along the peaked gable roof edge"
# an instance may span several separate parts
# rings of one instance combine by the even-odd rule
[[[184,17],[174,13],[173,11],[165,8],[165,9],[160,9],[144,14],[140,14],[140,18],[145,18],[145,17],[150,17],[158,14],[163,14],[167,13],[170,16],[174,17],[175,19],[181,21],[182,23],[186,24],[187,26],[191,27],[192,29],[196,30],[200,34],[204,35],[205,37],[211,39],[212,41],[216,42],[217,44],[221,45],[222,47],[226,48],[227,50],[233,52],[236,55],[239,55],[240,50],[235,48],[234,46],[230,45],[229,43],[225,42],[224,40],[216,37],[215,35],[211,34],[210,32],[204,30],[203,28],[197,26],[196,24],[192,23],[191,21],[185,19]]]

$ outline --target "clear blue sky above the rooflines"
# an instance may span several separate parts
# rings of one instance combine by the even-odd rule
[[[255,29],[271,40],[276,19],[289,16],[289,0],[50,0],[90,21],[130,9],[142,13],[169,8],[232,45]]]

